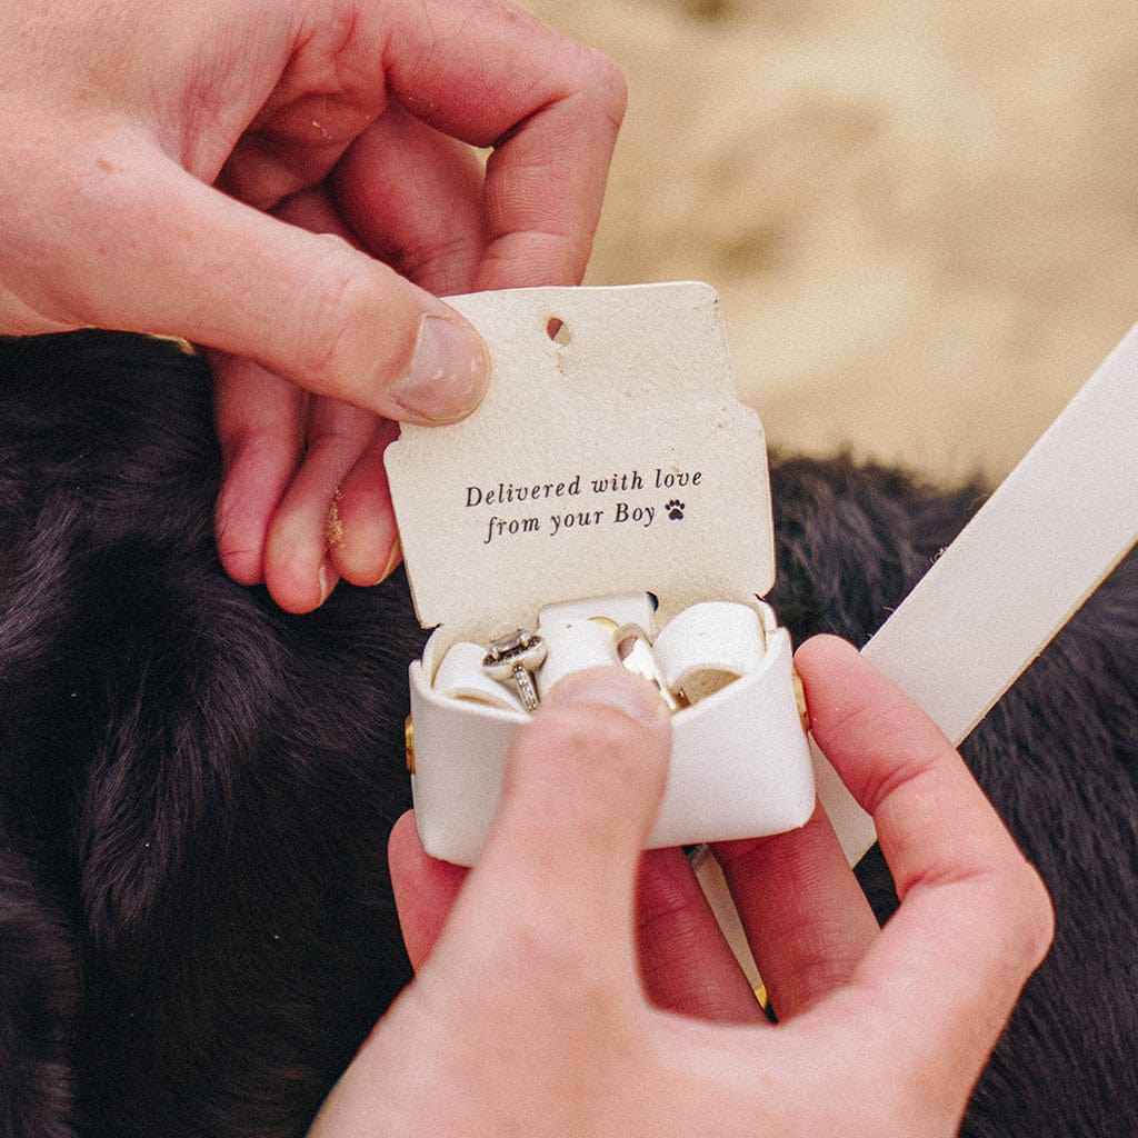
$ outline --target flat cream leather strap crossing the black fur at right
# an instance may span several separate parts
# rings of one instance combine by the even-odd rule
[[[1138,542],[1138,325],[865,646],[959,744]],[[873,823],[815,749],[850,861]]]

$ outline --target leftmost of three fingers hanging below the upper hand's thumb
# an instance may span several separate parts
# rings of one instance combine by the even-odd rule
[[[265,537],[304,450],[304,393],[238,356],[212,360],[224,478],[214,531],[222,566],[241,585],[264,580]]]

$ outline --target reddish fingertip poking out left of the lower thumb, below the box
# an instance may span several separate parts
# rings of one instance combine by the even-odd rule
[[[410,810],[391,830],[387,857],[403,942],[418,972],[443,933],[468,871],[427,853]]]

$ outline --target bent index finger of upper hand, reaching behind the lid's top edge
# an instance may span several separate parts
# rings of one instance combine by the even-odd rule
[[[443,133],[495,148],[477,287],[579,281],[624,116],[620,73],[505,3],[429,0],[397,13],[394,97]]]

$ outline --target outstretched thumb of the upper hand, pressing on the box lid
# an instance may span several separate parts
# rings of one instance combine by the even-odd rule
[[[478,405],[485,346],[442,300],[165,157],[121,163],[85,184],[90,323],[182,336],[388,419],[452,422]]]

